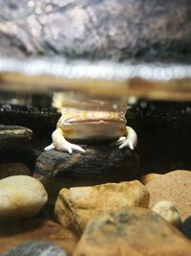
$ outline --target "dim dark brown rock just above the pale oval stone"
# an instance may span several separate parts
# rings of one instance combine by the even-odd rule
[[[0,164],[0,179],[12,175],[32,175],[29,167],[22,163]]]

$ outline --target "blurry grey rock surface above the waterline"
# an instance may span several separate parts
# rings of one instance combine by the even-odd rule
[[[190,53],[189,0],[1,1],[0,54],[126,59]]]

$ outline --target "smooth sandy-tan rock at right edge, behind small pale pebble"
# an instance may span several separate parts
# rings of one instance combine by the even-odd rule
[[[177,207],[181,220],[191,213],[191,172],[178,170],[161,175],[146,184],[150,193],[149,207],[159,200],[172,201]]]

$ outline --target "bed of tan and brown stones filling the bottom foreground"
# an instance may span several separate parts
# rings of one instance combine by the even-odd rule
[[[143,180],[148,181],[147,177]],[[36,178],[2,178],[0,253],[188,256],[190,181],[191,172],[178,170],[154,174],[146,185],[132,180],[63,187],[51,221],[39,218],[47,193]]]

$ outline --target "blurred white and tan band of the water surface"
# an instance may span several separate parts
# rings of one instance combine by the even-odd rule
[[[74,90],[99,97],[191,99],[191,65],[61,58],[0,59],[0,89],[31,93]]]

